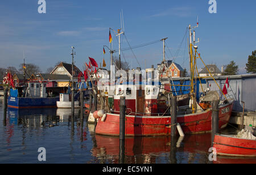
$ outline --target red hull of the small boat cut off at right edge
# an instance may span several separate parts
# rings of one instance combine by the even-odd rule
[[[241,139],[228,135],[215,135],[213,147],[217,155],[256,157],[256,140]]]

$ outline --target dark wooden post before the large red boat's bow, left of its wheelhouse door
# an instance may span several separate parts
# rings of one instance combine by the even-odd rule
[[[126,113],[126,105],[125,105],[125,97],[120,97],[120,115],[119,115],[119,139],[125,139],[125,113]]]

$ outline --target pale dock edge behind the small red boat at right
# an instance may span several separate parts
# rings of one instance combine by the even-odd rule
[[[243,115],[242,112],[232,111],[232,115],[230,117],[229,123],[241,125],[242,115]],[[243,115],[243,124],[246,126],[256,127],[256,113],[253,111],[245,112],[245,114]]]

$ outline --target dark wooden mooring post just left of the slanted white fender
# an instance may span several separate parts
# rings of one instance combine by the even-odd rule
[[[177,97],[171,97],[171,136],[176,135],[177,127]]]

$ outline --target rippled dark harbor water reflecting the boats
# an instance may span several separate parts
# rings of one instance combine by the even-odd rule
[[[1,164],[118,164],[119,137],[94,133],[94,124],[81,119],[80,110],[71,117],[71,109],[8,109],[0,98]],[[234,127],[222,133],[236,134]],[[217,156],[209,160],[211,135],[177,137],[128,137],[125,139],[125,164],[211,164],[256,163],[255,158]],[[39,148],[45,148],[46,161],[39,161]]]

